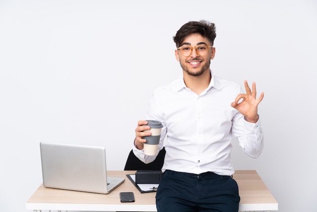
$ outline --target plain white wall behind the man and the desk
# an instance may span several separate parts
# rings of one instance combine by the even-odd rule
[[[265,149],[234,145],[279,211],[317,211],[317,3],[0,0],[0,211],[26,211],[42,183],[39,142],[105,146],[122,170],[157,86],[177,78],[172,37],[216,23],[214,73],[257,82]]]

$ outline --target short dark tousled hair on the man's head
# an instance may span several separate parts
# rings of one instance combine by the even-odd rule
[[[202,37],[207,38],[213,45],[216,38],[216,26],[214,23],[210,23],[205,20],[189,21],[185,23],[173,37],[176,47],[180,47],[186,37],[193,33],[198,33]]]

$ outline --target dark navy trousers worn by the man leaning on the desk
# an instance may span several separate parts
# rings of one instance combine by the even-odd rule
[[[213,172],[191,174],[166,170],[156,192],[159,212],[236,212],[239,202],[235,180]]]

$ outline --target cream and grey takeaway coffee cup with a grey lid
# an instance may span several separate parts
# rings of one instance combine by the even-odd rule
[[[151,132],[150,136],[144,136],[146,139],[144,143],[144,154],[145,155],[156,155],[157,147],[159,147],[162,123],[160,121],[155,120],[146,120],[148,126],[151,128],[149,130],[144,130],[144,132]],[[143,125],[145,126],[145,125]]]

